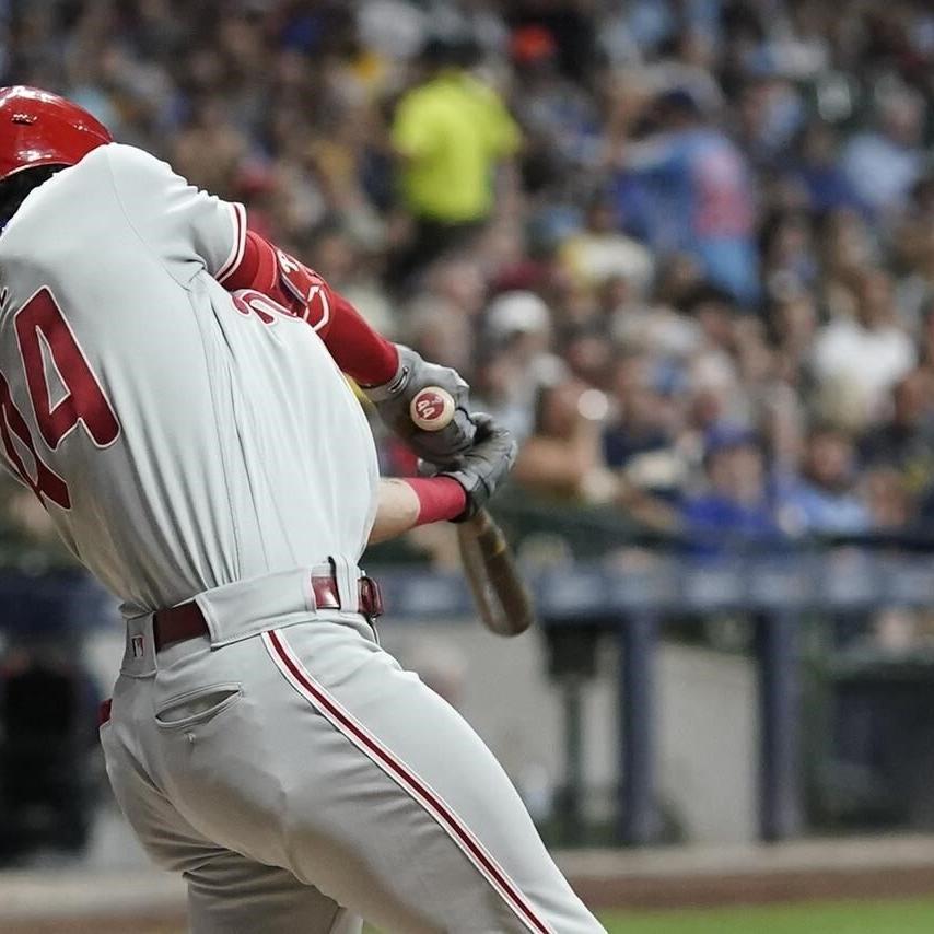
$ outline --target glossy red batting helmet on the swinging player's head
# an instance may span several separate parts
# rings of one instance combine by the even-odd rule
[[[0,87],[0,182],[37,165],[74,165],[112,142],[86,110],[38,87]]]

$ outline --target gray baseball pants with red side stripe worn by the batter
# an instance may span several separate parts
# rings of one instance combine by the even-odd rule
[[[283,606],[273,577],[201,595],[211,637],[157,654],[128,620],[101,728],[194,934],[602,932],[459,714],[362,617]]]

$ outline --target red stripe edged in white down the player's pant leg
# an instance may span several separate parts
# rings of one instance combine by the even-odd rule
[[[292,687],[431,814],[487,882],[502,896],[519,921],[529,931],[538,934],[554,934],[548,923],[537,915],[505,871],[440,795],[383,746],[308,674],[291,652],[281,630],[269,630],[262,634],[262,639],[272,661]]]

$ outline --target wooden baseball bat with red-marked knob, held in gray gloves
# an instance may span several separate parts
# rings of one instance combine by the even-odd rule
[[[424,431],[441,431],[454,418],[454,399],[445,389],[429,386],[411,401],[412,421]],[[457,525],[457,545],[464,573],[480,619],[498,635],[518,635],[535,619],[528,587],[519,576],[512,550],[486,509]]]

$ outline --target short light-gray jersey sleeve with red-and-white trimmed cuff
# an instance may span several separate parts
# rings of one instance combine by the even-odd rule
[[[246,212],[190,185],[135,147],[107,147],[114,189],[129,225],[183,285],[206,269],[223,282],[243,257]]]

